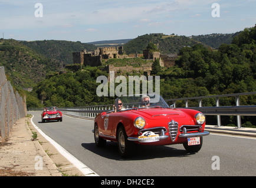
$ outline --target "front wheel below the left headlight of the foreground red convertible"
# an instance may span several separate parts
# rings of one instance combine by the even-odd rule
[[[117,131],[117,141],[119,154],[123,158],[128,158],[132,156],[133,146],[132,142],[127,139],[126,131],[123,126],[119,127]]]

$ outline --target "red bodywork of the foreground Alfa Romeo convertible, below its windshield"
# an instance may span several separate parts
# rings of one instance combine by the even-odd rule
[[[120,110],[120,112],[103,112],[94,119],[94,139],[96,145],[103,146],[104,140],[120,142],[127,147],[131,142],[141,145],[173,145],[183,143],[189,152],[198,152],[202,146],[202,136],[209,135],[204,132],[205,122],[199,125],[195,116],[198,111],[192,109],[172,109],[160,106],[151,108],[134,108]],[[202,115],[202,113],[200,113]],[[143,117],[145,126],[142,129],[134,126],[134,120]],[[119,139],[119,129],[124,132],[124,141]],[[143,134],[144,133],[144,134]],[[188,139],[189,138],[189,139]],[[199,143],[192,143],[198,142]],[[103,143],[103,144],[99,144]],[[192,143],[192,147],[187,145]],[[129,146],[130,147],[130,146]],[[120,152],[120,151],[119,151]],[[130,156],[128,152],[120,154],[123,157]]]

